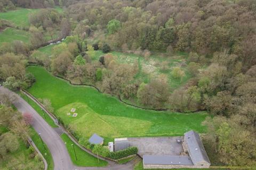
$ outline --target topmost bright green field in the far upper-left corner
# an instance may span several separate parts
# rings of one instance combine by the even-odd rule
[[[37,9],[18,8],[17,10],[1,12],[0,19],[5,19],[19,26],[29,26],[28,16],[30,12],[35,12]]]

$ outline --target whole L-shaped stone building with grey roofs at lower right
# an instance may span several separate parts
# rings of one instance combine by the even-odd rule
[[[199,134],[189,131],[182,141],[180,155],[143,155],[143,168],[209,168],[211,163]]]

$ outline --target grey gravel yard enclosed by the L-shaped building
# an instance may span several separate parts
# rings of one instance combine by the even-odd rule
[[[178,143],[177,139],[182,140],[183,137],[143,137],[128,138],[131,146],[139,149],[138,155],[180,155],[183,152],[182,143]]]

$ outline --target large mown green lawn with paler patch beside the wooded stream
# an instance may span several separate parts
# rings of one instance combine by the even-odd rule
[[[189,130],[205,132],[201,123],[206,112],[183,114],[138,109],[93,88],[71,86],[42,67],[29,66],[27,71],[36,78],[28,91],[36,98],[49,98],[55,114],[79,137],[90,138],[98,133],[107,143],[118,137],[174,136]],[[71,108],[76,108],[77,117],[72,116]]]

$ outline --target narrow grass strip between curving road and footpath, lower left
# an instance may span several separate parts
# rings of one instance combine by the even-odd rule
[[[49,151],[49,149],[47,148],[46,145],[45,145],[46,150],[44,149],[43,143],[42,143],[39,135],[36,133],[36,131],[33,128],[30,128],[30,129],[31,129],[30,137],[33,140],[33,142],[35,143],[36,147],[41,152],[41,154],[43,155],[43,157],[45,158],[47,165],[48,165],[47,170],[53,170],[54,163],[53,163],[51,152]]]

